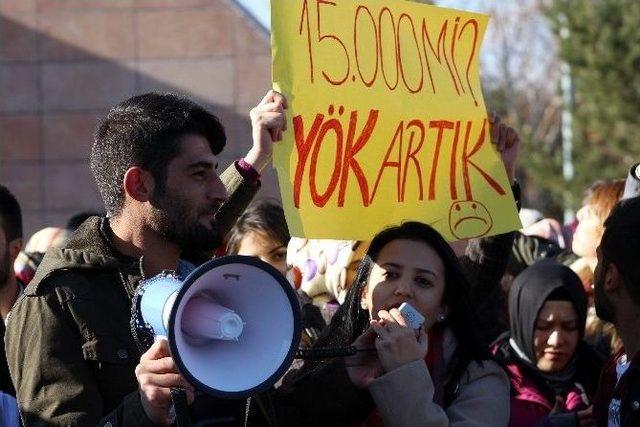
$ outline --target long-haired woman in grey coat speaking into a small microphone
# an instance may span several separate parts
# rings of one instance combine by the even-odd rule
[[[425,321],[411,328],[410,303]],[[469,283],[447,242],[405,222],[372,240],[315,348],[354,356],[306,361],[273,394],[280,426],[506,426],[509,383],[476,331]]]

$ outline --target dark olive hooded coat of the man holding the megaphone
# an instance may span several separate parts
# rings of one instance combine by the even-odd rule
[[[226,232],[258,185],[234,165],[221,179],[230,194],[218,214]],[[130,329],[143,273],[140,260],[115,251],[109,233],[106,218],[92,217],[64,248],[50,249],[9,315],[7,360],[25,425],[151,425]],[[224,405],[231,407],[221,413],[243,417],[244,401]]]

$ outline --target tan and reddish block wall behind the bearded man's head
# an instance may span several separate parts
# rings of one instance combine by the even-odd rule
[[[244,154],[270,63],[268,35],[230,0],[0,0],[0,182],[26,235],[102,209],[92,132],[133,94],[193,97],[225,124],[222,164]],[[277,194],[269,170],[261,196]]]

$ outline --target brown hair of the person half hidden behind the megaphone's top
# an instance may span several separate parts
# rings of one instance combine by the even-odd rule
[[[237,254],[242,239],[252,231],[285,246],[291,239],[282,206],[269,199],[256,200],[238,218],[227,238],[227,253]]]

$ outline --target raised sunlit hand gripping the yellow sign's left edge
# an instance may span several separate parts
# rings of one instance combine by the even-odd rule
[[[286,98],[275,90],[270,90],[249,113],[253,146],[244,160],[258,172],[262,172],[269,164],[273,143],[280,141],[282,132],[287,130],[286,109]]]

